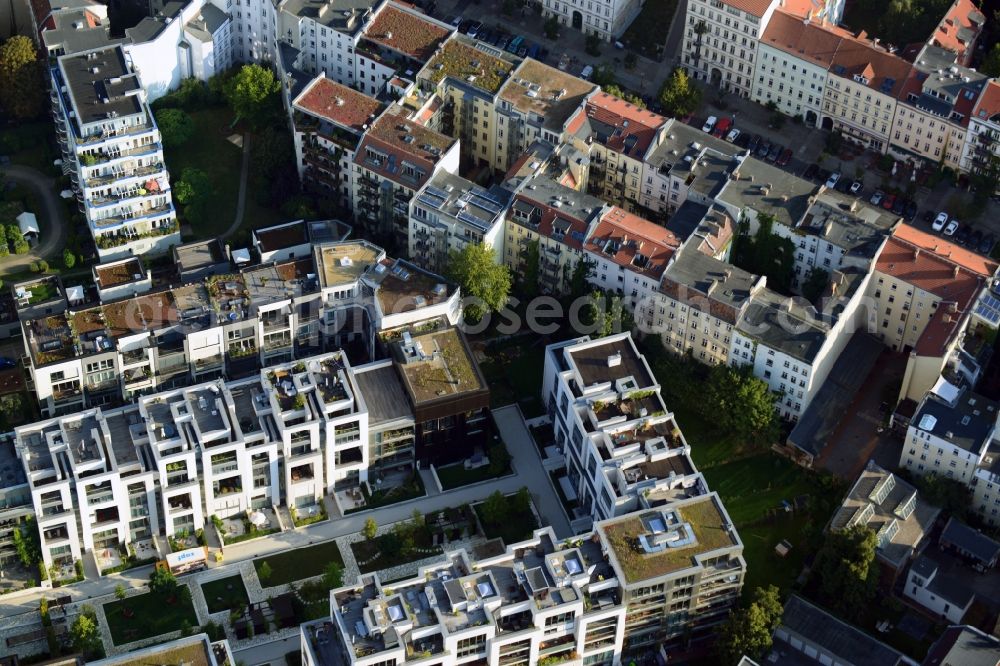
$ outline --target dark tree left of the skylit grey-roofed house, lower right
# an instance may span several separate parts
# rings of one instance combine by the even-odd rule
[[[855,525],[830,532],[816,554],[813,575],[825,601],[848,619],[863,615],[875,599],[878,536],[867,526]]]

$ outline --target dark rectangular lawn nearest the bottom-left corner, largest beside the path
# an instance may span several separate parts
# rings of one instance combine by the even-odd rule
[[[126,613],[128,617],[126,617]],[[198,626],[190,599],[180,595],[168,602],[163,595],[147,592],[123,601],[104,604],[104,615],[115,645]]]

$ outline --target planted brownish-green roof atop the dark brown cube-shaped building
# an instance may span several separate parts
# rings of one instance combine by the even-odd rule
[[[472,354],[455,328],[414,336],[396,348],[397,366],[415,403],[485,389]]]

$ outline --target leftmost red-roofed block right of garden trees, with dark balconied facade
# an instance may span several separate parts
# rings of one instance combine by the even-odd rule
[[[355,155],[365,131],[385,106],[353,88],[317,76],[292,102],[295,163],[303,187],[354,205]]]

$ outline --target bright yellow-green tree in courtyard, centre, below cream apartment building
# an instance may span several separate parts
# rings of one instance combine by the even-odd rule
[[[510,294],[510,269],[497,263],[493,248],[485,243],[469,243],[449,256],[448,277],[462,288],[466,299],[465,318],[478,323],[487,312],[499,311]]]

